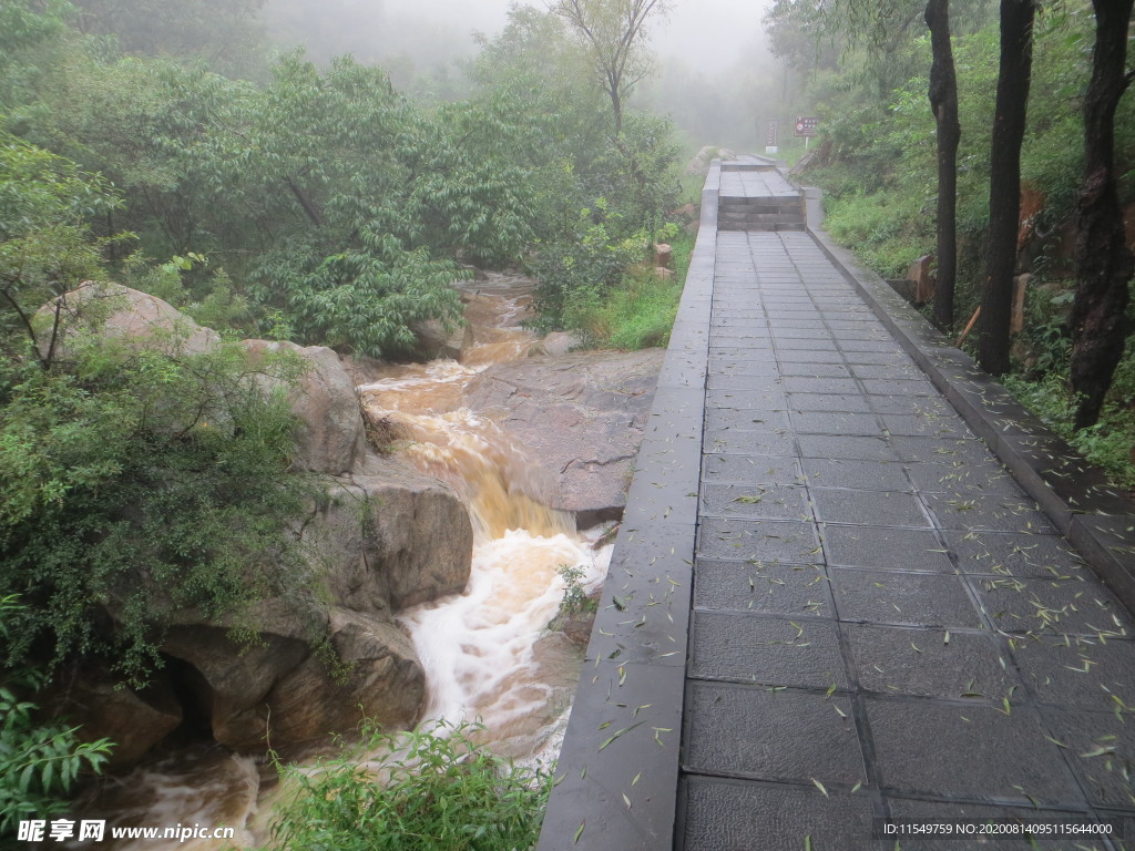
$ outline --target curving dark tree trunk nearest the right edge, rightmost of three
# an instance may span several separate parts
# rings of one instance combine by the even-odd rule
[[[1127,26],[1133,0],[1092,0],[1095,51],[1084,99],[1084,182],[1076,199],[1076,301],[1071,307],[1071,388],[1079,395],[1076,428],[1100,419],[1127,336],[1127,248],[1115,175],[1116,107],[1127,75]]]

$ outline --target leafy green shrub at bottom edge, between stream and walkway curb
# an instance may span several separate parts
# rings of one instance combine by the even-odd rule
[[[304,851],[519,851],[536,843],[552,775],[518,768],[439,722],[362,741],[314,769],[277,764],[288,789],[272,848]],[[377,756],[376,756],[377,752]]]

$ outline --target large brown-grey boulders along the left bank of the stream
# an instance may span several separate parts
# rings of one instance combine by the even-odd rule
[[[84,285],[41,309],[37,321],[50,328],[57,314],[57,356],[87,332],[191,354],[220,345],[216,332],[127,287]],[[253,363],[291,353],[306,368],[288,388],[299,421],[293,467],[325,477],[327,499],[295,532],[317,585],[299,596],[321,604],[263,600],[252,613],[260,638],[251,646],[234,641],[232,623],[170,608],[161,651],[177,682],[154,694],[116,689],[107,672],[83,672],[81,688],[58,708],[84,725],[84,735],[121,743],[116,767],[177,727],[183,709],[239,751],[262,751],[270,735],[274,748],[293,752],[353,728],[362,715],[389,728],[412,725],[426,679],[394,614],[461,591],[469,578],[472,526],[463,504],[448,485],[368,447],[338,355],[291,343],[242,345]],[[272,389],[274,379],[262,380]],[[111,604],[111,617],[114,610]]]

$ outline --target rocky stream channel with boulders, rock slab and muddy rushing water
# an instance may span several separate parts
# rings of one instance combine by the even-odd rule
[[[235,825],[257,844],[274,785],[264,731],[299,758],[363,711],[389,728],[480,719],[496,750],[555,757],[582,655],[548,630],[561,570],[580,568],[585,588],[602,581],[602,542],[624,505],[662,352],[569,353],[563,335],[537,338],[520,327],[530,286],[503,275],[462,285],[466,326],[424,329],[442,355],[426,363],[244,344],[292,348],[309,364],[293,394],[295,465],[329,477],[331,499],[302,536],[326,570],[330,633],[351,675],[333,685],[271,600],[263,643],[249,651],[224,626],[187,618],[163,648],[176,688],[128,696],[162,723],[140,734],[140,707],[104,723],[131,742],[129,758],[89,799],[92,814]],[[128,300],[143,325],[184,327],[158,300]],[[193,330],[202,346],[215,345],[210,334]],[[186,725],[196,741],[186,743]]]

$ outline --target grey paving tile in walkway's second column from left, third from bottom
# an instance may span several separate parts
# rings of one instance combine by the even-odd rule
[[[884,694],[1000,702],[1018,684],[992,635],[894,626],[844,627],[859,685]]]

